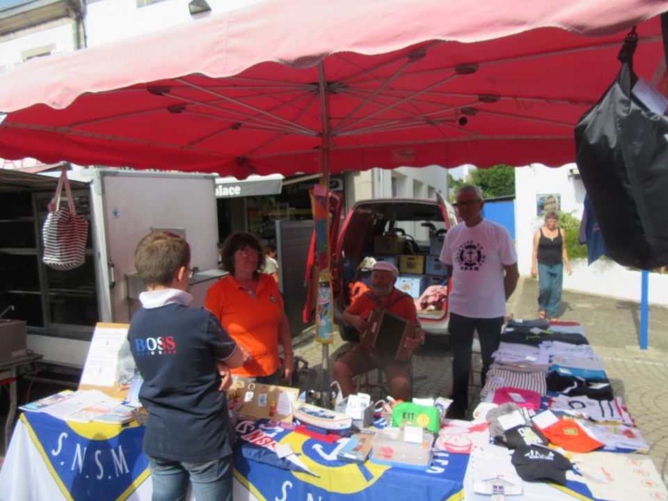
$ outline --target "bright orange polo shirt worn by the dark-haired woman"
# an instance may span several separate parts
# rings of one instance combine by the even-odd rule
[[[232,369],[242,377],[268,376],[280,365],[278,323],[283,298],[276,280],[260,273],[255,298],[232,275],[226,275],[209,288],[204,306],[211,311],[253,360]]]

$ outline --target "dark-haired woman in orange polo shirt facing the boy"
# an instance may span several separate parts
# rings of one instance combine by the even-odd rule
[[[293,371],[292,335],[276,280],[264,268],[260,242],[253,234],[237,232],[225,239],[221,261],[229,275],[207,291],[205,308],[223,324],[252,358],[232,374],[258,383],[289,381]],[[283,344],[283,374],[279,373],[278,340]]]

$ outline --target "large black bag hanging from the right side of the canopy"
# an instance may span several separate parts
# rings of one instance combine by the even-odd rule
[[[610,257],[653,269],[668,263],[668,118],[631,95],[635,29],[621,70],[575,127],[578,170]]]

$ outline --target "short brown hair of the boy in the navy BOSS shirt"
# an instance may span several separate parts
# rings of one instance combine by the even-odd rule
[[[181,267],[190,263],[190,246],[181,235],[168,231],[143,237],[134,251],[134,267],[150,287],[171,285]]]

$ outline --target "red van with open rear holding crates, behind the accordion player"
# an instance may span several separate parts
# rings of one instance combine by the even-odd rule
[[[331,216],[333,222],[339,221],[335,211]],[[355,288],[370,285],[370,273],[363,269],[367,258],[395,264],[399,269],[396,286],[415,299],[424,332],[447,336],[447,299],[439,303],[443,309],[431,311],[422,310],[418,300],[430,285],[449,286],[445,264],[438,261],[438,255],[443,235],[456,223],[454,208],[440,194],[436,200],[380,198],[356,202],[340,233],[334,230],[330,236],[334,318],[344,340],[359,340],[355,329],[343,325],[341,314],[354,299]],[[447,289],[439,290],[447,293]]]

